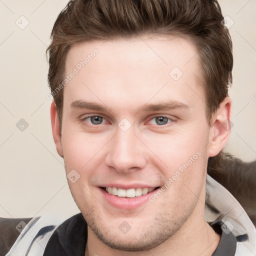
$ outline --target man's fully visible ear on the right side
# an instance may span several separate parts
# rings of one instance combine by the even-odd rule
[[[212,115],[209,133],[208,157],[217,155],[225,146],[231,131],[231,99],[225,97],[216,113]]]

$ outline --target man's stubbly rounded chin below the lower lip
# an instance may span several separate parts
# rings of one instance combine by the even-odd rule
[[[130,223],[130,229],[124,233],[121,229],[122,226],[128,226],[128,219],[126,224],[122,224],[125,222],[123,218],[107,221],[91,208],[83,214],[88,225],[88,233],[93,233],[98,240],[110,248],[122,251],[146,251],[157,247],[175,234],[187,219],[187,216],[184,216],[184,218],[174,217],[168,220],[164,215],[163,213],[163,216],[150,220],[143,219],[143,222],[139,221],[139,218],[137,221],[134,219],[133,223]]]

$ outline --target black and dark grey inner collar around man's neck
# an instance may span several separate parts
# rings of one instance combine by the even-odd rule
[[[226,227],[222,231],[221,220],[209,223],[214,231],[221,235],[219,244],[212,256],[234,256],[236,238]],[[60,224],[51,235],[43,256],[84,256],[87,241],[87,224],[78,213]]]

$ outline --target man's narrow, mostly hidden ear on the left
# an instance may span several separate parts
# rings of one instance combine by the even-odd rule
[[[57,152],[61,157],[63,157],[62,145],[61,145],[61,132],[59,129],[57,108],[54,100],[52,100],[50,105],[50,120],[51,120],[53,140],[55,142]]]

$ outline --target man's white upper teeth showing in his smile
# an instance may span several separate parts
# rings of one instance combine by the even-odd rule
[[[123,189],[123,188],[117,188],[117,187],[106,187],[106,191],[109,194],[117,195],[119,197],[135,197],[140,196],[142,194],[150,193],[154,190],[154,187],[151,188],[130,188],[130,189]]]

